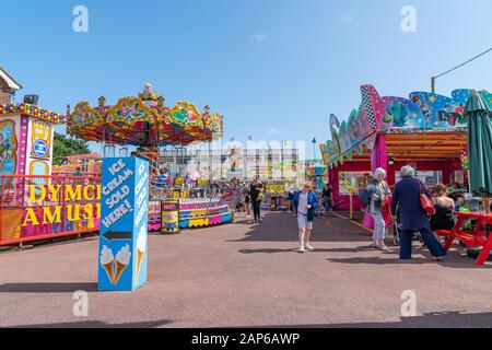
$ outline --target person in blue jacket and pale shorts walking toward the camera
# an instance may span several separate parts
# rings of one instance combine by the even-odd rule
[[[315,211],[318,208],[318,198],[311,189],[311,183],[305,183],[302,191],[294,195],[294,206],[297,208],[297,225],[298,225],[298,241],[301,243],[300,252],[305,249],[314,250],[309,244],[311,231],[313,230],[313,221]]]

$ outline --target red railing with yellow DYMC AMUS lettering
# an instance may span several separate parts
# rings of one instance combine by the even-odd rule
[[[0,246],[96,232],[101,177],[0,175]]]

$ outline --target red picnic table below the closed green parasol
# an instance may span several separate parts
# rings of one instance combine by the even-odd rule
[[[453,230],[436,231],[437,235],[447,237],[444,243],[444,249],[447,252],[455,240],[461,241],[469,248],[482,247],[475,265],[483,266],[492,249],[492,235],[490,231],[487,231],[488,225],[492,225],[492,214],[485,214],[483,212],[456,212],[455,215],[458,220]],[[462,230],[462,225],[467,220],[475,221],[472,230]]]

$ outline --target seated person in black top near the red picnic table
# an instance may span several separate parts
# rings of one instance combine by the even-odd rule
[[[447,189],[443,184],[437,184],[434,192],[432,203],[435,214],[431,217],[431,230],[452,230],[455,226],[455,201],[447,197]]]

